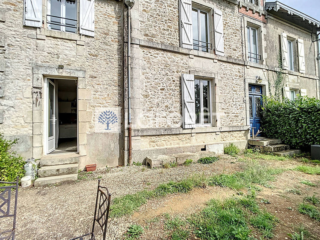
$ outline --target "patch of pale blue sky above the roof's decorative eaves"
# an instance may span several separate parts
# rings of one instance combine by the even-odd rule
[[[267,0],[267,2],[275,1],[276,0]],[[278,0],[278,2],[292,7],[320,21],[320,0]]]

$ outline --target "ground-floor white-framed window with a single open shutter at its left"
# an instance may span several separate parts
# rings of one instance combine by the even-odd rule
[[[211,81],[195,79],[196,124],[212,124]]]

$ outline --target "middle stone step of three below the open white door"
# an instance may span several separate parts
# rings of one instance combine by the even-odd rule
[[[78,172],[78,164],[62,164],[54,166],[44,166],[39,168],[40,177],[52,177],[58,175],[75,174]]]

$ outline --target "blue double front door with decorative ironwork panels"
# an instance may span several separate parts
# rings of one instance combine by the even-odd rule
[[[250,126],[255,127],[251,129],[256,134],[260,128],[261,124],[261,105],[262,105],[262,87],[258,85],[249,85],[249,114],[250,114]],[[258,134],[258,136],[260,136]]]

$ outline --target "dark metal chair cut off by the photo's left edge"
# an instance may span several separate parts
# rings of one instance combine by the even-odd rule
[[[18,199],[18,186],[19,177],[17,177],[16,182],[4,182],[0,181],[0,184],[10,184],[0,187],[0,219],[2,221],[8,220],[5,223],[10,224],[10,218],[13,218],[12,229],[1,229],[0,240],[14,240],[14,231],[16,228],[16,213],[17,213],[17,199]],[[14,209],[10,209],[11,193],[12,189],[15,188],[15,198],[14,198]],[[8,219],[5,219],[8,218]],[[11,225],[11,224],[10,224]],[[1,227],[3,228],[3,227]]]

